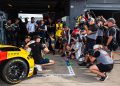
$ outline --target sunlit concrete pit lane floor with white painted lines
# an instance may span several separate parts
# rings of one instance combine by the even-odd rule
[[[95,74],[91,74],[86,67],[77,65],[77,61],[70,61],[74,74],[71,74],[63,57],[60,55],[46,55],[56,61],[53,66],[44,68],[36,76],[26,79],[14,86],[120,86],[120,55],[115,56],[115,65],[109,78],[101,82]],[[0,86],[10,86],[0,80]]]

